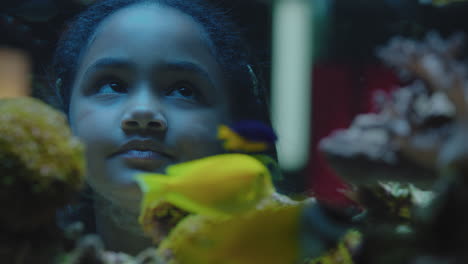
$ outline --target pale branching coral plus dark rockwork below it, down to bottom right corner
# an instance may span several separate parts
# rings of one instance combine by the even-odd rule
[[[381,95],[378,113],[358,116],[321,142],[332,167],[356,186],[351,196],[366,208],[356,263],[468,261],[468,215],[460,213],[468,206],[463,47],[461,34],[392,39],[378,55],[412,83]],[[382,182],[389,180],[399,183]]]

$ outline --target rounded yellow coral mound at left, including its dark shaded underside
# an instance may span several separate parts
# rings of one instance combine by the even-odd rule
[[[83,146],[65,116],[40,100],[1,99],[0,113],[0,206],[8,212],[0,225],[50,224],[84,182]]]

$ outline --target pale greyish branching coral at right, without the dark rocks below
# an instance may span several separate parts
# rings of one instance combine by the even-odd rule
[[[358,115],[349,129],[320,142],[341,176],[359,184],[432,184],[436,167],[450,159],[448,153],[439,156],[442,145],[454,133],[453,126],[461,125],[455,121],[467,116],[465,102],[460,102],[466,70],[457,60],[462,43],[462,35],[444,41],[431,33],[423,42],[396,37],[378,51],[402,78],[416,80],[389,96],[380,94],[378,113]]]

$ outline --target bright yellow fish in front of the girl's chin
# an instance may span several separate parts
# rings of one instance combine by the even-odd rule
[[[188,212],[228,217],[254,208],[275,191],[268,169],[245,154],[221,154],[176,164],[166,173],[136,176],[143,192],[140,222],[145,212],[162,202]]]

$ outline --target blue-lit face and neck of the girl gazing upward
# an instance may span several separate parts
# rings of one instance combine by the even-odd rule
[[[226,87],[205,31],[190,16],[137,5],[106,18],[81,57],[70,103],[90,185],[137,211],[135,173],[220,153]]]

